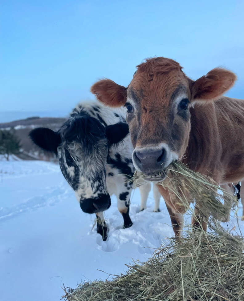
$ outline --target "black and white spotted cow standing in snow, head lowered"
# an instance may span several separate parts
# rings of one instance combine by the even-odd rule
[[[96,213],[97,232],[107,239],[107,225],[103,211],[110,205],[110,196],[118,199],[118,210],[124,219],[124,228],[132,226],[129,216],[130,195],[134,173],[132,144],[124,109],[107,108],[97,103],[80,103],[61,128],[54,132],[36,128],[30,138],[44,150],[58,155],[63,176],[75,191],[84,212]],[[140,187],[141,210],[151,184]],[[160,194],[153,189],[154,211],[159,211]]]

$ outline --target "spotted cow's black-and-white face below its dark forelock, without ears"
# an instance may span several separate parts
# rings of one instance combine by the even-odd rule
[[[87,213],[104,211],[111,204],[106,185],[107,139],[100,137],[93,143],[89,149],[77,141],[58,147],[60,169]]]

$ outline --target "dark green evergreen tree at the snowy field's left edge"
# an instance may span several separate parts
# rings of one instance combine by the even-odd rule
[[[11,130],[0,130],[0,154],[9,160],[9,155],[19,153],[20,141]]]

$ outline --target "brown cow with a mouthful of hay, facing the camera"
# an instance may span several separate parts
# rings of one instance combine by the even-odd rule
[[[149,180],[184,158],[192,170],[224,185],[244,178],[244,101],[222,95],[235,80],[234,73],[215,68],[193,81],[179,63],[158,57],[138,65],[127,88],[104,79],[91,91],[108,106],[127,107],[133,163]],[[168,190],[159,190],[180,235],[185,208]],[[206,230],[208,217],[195,207],[192,223]]]

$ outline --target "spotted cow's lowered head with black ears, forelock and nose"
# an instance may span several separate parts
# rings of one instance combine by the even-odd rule
[[[71,116],[58,132],[36,128],[30,138],[44,150],[55,152],[60,169],[84,212],[96,213],[111,205],[106,186],[109,147],[128,134],[126,123],[104,126],[86,113]]]

